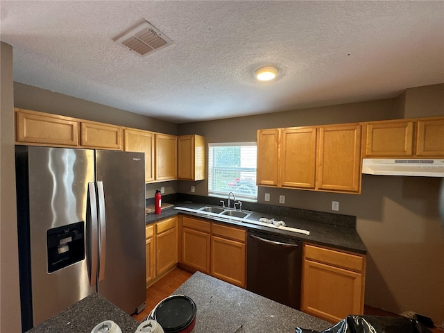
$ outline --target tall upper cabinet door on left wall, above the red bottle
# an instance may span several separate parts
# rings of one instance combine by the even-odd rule
[[[155,135],[155,180],[177,179],[177,151],[175,135]]]

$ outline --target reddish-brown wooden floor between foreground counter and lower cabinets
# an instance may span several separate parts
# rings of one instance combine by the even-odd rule
[[[158,302],[170,296],[171,293],[178,289],[183,282],[187,281],[191,275],[191,273],[176,267],[173,269],[173,271],[165,275],[164,278],[148,287],[146,289],[146,307],[140,314],[133,315],[133,318],[139,322],[143,321]],[[371,316],[398,316],[397,314],[393,314],[382,309],[377,309],[375,307],[369,307],[368,305],[364,306],[364,314]],[[439,327],[429,330],[431,330],[433,333],[444,333],[444,330]]]

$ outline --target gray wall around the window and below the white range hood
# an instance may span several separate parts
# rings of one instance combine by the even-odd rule
[[[207,142],[251,142],[259,128],[438,116],[444,115],[443,89],[417,87],[398,99],[186,123],[178,133],[203,135]],[[191,185],[196,194],[207,195],[206,180],[178,182],[178,192],[190,193]],[[395,313],[415,311],[444,325],[440,189],[444,191],[441,178],[364,175],[360,195],[259,187],[258,202],[265,204],[269,193],[270,203],[280,205],[284,195],[286,206],[331,212],[332,200],[339,201],[339,213],[357,216],[357,230],[368,248],[366,304]]]

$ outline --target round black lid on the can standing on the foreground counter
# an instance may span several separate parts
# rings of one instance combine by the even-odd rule
[[[153,317],[165,333],[180,332],[196,318],[196,303],[188,296],[171,296],[159,303]]]

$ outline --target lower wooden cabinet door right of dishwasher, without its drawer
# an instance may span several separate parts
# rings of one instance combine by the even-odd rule
[[[302,311],[337,323],[362,314],[361,273],[304,260]]]

